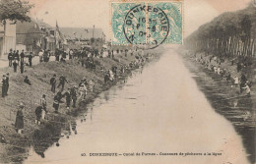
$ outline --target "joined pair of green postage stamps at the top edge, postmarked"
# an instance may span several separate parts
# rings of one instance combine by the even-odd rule
[[[181,44],[182,1],[111,1],[112,45]]]

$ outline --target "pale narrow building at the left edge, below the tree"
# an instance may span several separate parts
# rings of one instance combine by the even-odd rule
[[[0,55],[7,58],[10,49],[16,48],[16,24],[7,20],[5,25],[0,23]]]

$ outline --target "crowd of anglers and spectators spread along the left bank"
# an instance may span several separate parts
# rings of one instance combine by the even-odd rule
[[[137,51],[137,50],[136,50]],[[116,51],[117,52],[117,51]],[[117,53],[120,53],[123,51],[119,51]],[[128,50],[124,50],[125,57],[127,57]],[[135,53],[133,50],[131,51],[131,56],[134,56],[134,61],[129,63],[128,65],[123,65],[120,68],[117,66],[112,66],[110,69],[105,69],[103,65],[100,64],[100,58],[108,57],[114,59],[113,50],[108,51],[108,54],[106,56],[103,55],[102,52],[98,53],[95,51],[90,51],[88,49],[70,49],[68,52],[65,52],[63,50],[56,49],[54,56],[55,61],[59,62],[66,62],[66,60],[71,60],[71,62],[76,61],[82,65],[82,67],[85,67],[85,69],[88,69],[89,71],[96,70],[96,66],[100,71],[104,73],[104,83],[107,84],[108,82],[113,82],[115,79],[118,78],[118,75],[124,74],[127,71],[130,71],[135,68],[140,68],[144,65],[146,60],[153,57],[153,55],[150,56],[148,53],[147,55],[142,55],[140,53]],[[48,50],[40,50],[38,52],[39,56],[39,62],[49,62],[49,58],[52,54]],[[30,55],[25,55],[24,51],[20,54],[19,51],[12,51],[10,50],[10,53],[8,55],[9,59],[9,66],[14,67],[14,71],[17,71],[17,66],[21,66],[21,73],[24,73],[24,68],[22,67],[25,65],[24,58],[29,58],[29,66],[32,66],[32,53]],[[67,59],[67,57],[69,57]],[[28,76],[25,77],[24,80],[25,83],[32,85],[31,80]],[[68,83],[68,86],[66,86],[66,83]],[[57,75],[54,74],[49,80],[50,90],[53,93],[53,104],[52,107],[54,109],[54,113],[59,113],[59,108],[61,103],[65,103],[66,114],[71,113],[71,108],[77,107],[77,102],[81,102],[87,99],[87,95],[89,92],[95,93],[95,82],[94,80],[89,80],[88,78],[84,77],[81,82],[78,84],[74,84],[69,82],[64,75],[60,75],[57,78]],[[8,95],[8,88],[9,88],[9,74],[6,74],[3,76],[2,79],[2,96],[5,97]],[[48,95],[51,96],[51,95]],[[63,100],[65,98],[65,100]],[[23,109],[25,105],[21,103],[19,105],[19,109],[16,114],[16,121],[15,121],[15,128],[18,132],[18,134],[22,133],[22,130],[24,129],[24,114]],[[46,100],[46,95],[42,94],[42,97],[40,98],[39,104],[36,104],[35,107],[35,124],[40,125],[43,120],[45,119],[45,115],[49,113],[50,110],[48,110],[49,105]]]

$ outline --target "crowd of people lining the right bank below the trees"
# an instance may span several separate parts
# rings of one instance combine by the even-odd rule
[[[210,72],[215,73],[215,75],[219,76],[221,79],[225,78],[226,82],[231,82],[231,87],[239,87],[240,94],[244,93],[247,96],[250,96],[251,94],[251,84],[252,82],[249,82],[249,80],[246,78],[245,74],[242,73],[242,70],[247,69],[247,67],[250,67],[252,65],[251,61],[248,60],[248,57],[244,57],[241,55],[238,55],[237,58],[232,59],[230,61],[230,65],[233,66],[236,62],[236,72],[230,71],[224,64],[224,56],[204,56],[204,55],[197,55],[194,54],[195,61],[203,65],[207,70]],[[235,73],[234,73],[235,72]],[[233,74],[231,74],[233,73]]]

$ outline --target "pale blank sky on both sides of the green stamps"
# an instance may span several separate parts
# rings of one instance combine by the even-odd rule
[[[110,36],[109,0],[29,0],[31,16],[55,27],[100,27]],[[157,1],[157,0],[156,0]],[[251,0],[183,0],[184,36],[224,12],[244,9]]]

